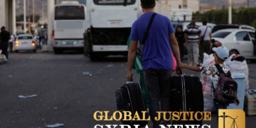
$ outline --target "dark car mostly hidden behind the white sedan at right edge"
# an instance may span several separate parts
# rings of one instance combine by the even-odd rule
[[[255,31],[255,28],[252,26],[247,25],[238,25],[238,24],[218,24],[217,26],[214,26],[212,29],[212,33],[215,33],[216,31],[228,29],[228,28],[237,28],[237,29],[249,29],[252,31]]]

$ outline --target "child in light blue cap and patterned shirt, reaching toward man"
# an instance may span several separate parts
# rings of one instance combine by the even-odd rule
[[[228,73],[229,68],[228,66],[224,65],[224,61],[228,58],[229,52],[228,49],[220,46],[218,48],[213,48],[214,51],[214,61],[216,64],[219,64],[221,68],[223,68],[223,71],[225,73]],[[191,66],[191,65],[185,65],[183,63],[178,63],[178,66],[180,68],[188,68],[189,70],[194,70],[194,71],[198,71],[198,72],[202,72],[203,75],[209,75],[210,79],[212,80],[212,88],[211,88],[211,96],[214,102],[214,107],[217,113],[217,119],[218,119],[218,110],[219,109],[227,109],[228,104],[225,103],[221,103],[218,102],[217,100],[215,100],[214,98],[214,92],[213,90],[215,90],[215,88],[218,85],[218,78],[219,78],[219,72],[218,69],[215,67],[214,64],[212,65],[207,65],[206,67],[196,67],[196,66]],[[235,105],[239,105],[240,101],[238,100],[238,96],[236,97],[235,100]]]

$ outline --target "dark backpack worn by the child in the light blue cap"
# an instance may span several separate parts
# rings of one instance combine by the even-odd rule
[[[226,74],[219,64],[215,64],[219,72],[218,85],[214,97],[218,102],[235,103],[238,94],[238,83],[231,77],[230,71]]]

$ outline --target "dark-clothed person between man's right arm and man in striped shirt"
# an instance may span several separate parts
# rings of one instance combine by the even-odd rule
[[[178,48],[181,54],[181,61],[183,61],[185,38],[184,38],[184,32],[181,29],[181,26],[178,26],[177,31],[175,33],[175,37],[176,37],[176,40],[178,41]]]

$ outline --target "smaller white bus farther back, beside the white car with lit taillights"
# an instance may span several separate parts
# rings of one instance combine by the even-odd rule
[[[78,1],[63,1],[53,11],[53,50],[78,50],[83,52],[86,7]]]

